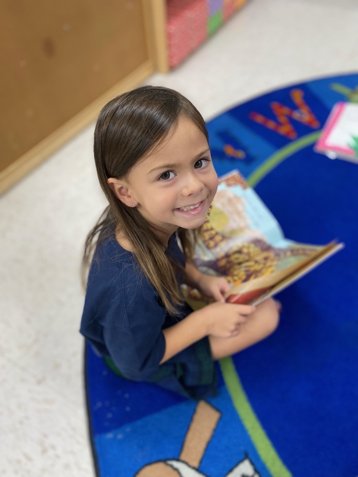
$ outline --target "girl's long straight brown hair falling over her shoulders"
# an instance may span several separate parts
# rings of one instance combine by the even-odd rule
[[[175,265],[164,253],[158,229],[136,208],[127,207],[109,187],[107,179],[123,179],[146,154],[158,147],[185,116],[203,132],[205,121],[195,106],[180,93],[161,86],[142,86],[109,101],[101,110],[95,128],[94,155],[100,185],[109,205],[89,232],[84,249],[83,271],[91,262],[93,249],[115,232],[131,243],[132,251],[167,311],[176,314],[183,299],[178,288]],[[192,259],[195,232],[178,230],[186,260]]]

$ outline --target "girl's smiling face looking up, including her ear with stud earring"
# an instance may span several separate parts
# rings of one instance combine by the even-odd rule
[[[120,181],[119,181],[120,182]],[[205,135],[182,116],[172,133],[127,175],[122,197],[167,237],[202,225],[218,179]]]

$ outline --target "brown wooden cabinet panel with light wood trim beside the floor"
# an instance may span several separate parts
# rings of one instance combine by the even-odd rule
[[[154,71],[156,0],[0,0],[0,192]]]

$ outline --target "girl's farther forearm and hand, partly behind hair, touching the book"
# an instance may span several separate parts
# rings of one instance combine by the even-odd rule
[[[225,301],[223,293],[230,290],[230,284],[224,277],[214,277],[200,272],[192,263],[185,265],[184,282],[196,288],[204,296],[213,298],[217,302]]]

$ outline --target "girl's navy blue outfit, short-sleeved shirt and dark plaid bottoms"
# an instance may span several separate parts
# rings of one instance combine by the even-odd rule
[[[185,266],[175,234],[169,239],[166,253]],[[193,397],[206,393],[202,385],[211,388],[216,380],[208,338],[159,365],[165,352],[163,329],[191,312],[184,304],[178,308],[178,316],[169,315],[135,255],[121,247],[114,235],[97,245],[80,332],[102,356],[113,360],[124,377],[157,381]]]

